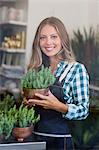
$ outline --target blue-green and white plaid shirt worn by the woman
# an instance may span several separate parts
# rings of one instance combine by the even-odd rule
[[[67,62],[60,62],[55,72],[60,77]],[[68,112],[63,117],[71,120],[82,120],[89,113],[89,76],[83,64],[75,62],[63,79],[64,100],[68,103]]]

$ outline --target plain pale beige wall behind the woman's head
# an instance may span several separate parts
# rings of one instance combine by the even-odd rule
[[[32,41],[40,21],[48,16],[59,17],[72,36],[73,29],[96,26],[98,0],[28,0],[28,29],[26,65],[31,55]]]

